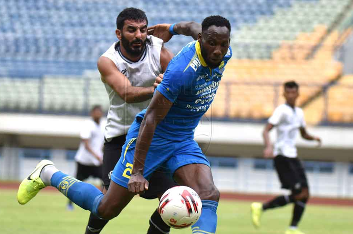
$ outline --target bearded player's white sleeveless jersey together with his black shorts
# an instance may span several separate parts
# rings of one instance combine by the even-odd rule
[[[139,61],[133,62],[121,53],[120,43],[114,42],[102,56],[114,62],[116,68],[129,79],[132,86],[151,87],[156,77],[162,73],[160,65],[160,52],[163,40],[147,36],[146,47]],[[105,143],[103,157],[103,183],[106,189],[110,184],[111,172],[119,161],[126,134],[135,119],[135,115],[147,108],[151,100],[139,103],[126,103],[111,87],[104,83],[109,97],[109,110],[105,126]],[[145,198],[156,198],[158,193],[174,186],[174,182],[167,176],[155,173],[158,183],[150,183],[150,189],[146,191]]]

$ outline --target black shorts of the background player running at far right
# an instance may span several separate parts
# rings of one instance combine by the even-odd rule
[[[307,176],[299,159],[277,155],[274,158],[274,167],[283,189],[292,190],[293,193],[300,193],[302,188],[308,188]]]

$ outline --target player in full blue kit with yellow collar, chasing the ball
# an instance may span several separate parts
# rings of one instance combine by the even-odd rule
[[[52,162],[42,161],[36,168],[40,173],[34,171],[29,176],[33,185],[22,182],[20,197],[28,202],[42,188],[34,184],[41,182],[56,187],[98,217],[112,219],[135,194],[148,190],[154,171],[162,170],[199,194],[203,209],[193,232],[215,233],[219,191],[209,162],[194,140],[194,131],[210,107],[231,57],[229,42],[227,19],[210,16],[203,20],[197,41],[190,42],[169,62],[148,108],[136,115],[105,195],[58,171]]]

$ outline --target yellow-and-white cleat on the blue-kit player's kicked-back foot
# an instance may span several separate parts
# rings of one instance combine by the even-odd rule
[[[17,201],[24,205],[29,202],[39,190],[45,187],[43,181],[40,179],[40,172],[47,165],[54,165],[53,162],[49,160],[42,160],[38,163],[34,171],[25,178],[18,188]]]

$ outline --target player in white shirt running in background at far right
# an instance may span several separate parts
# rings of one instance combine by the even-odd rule
[[[319,137],[309,135],[306,131],[304,112],[301,108],[296,107],[298,96],[299,86],[296,82],[284,83],[286,103],[275,109],[263,131],[264,157],[274,158],[274,166],[282,188],[291,190],[291,194],[278,196],[263,204],[254,202],[251,205],[253,223],[256,227],[259,227],[262,211],[293,202],[292,220],[285,234],[303,234],[302,231],[297,229],[297,225],[309,199],[307,177],[301,161],[297,158],[297,148],[295,146],[298,129],[304,139],[316,140],[319,145],[321,144]],[[269,131],[273,127],[277,129],[277,139],[274,147],[272,147],[269,138]]]

